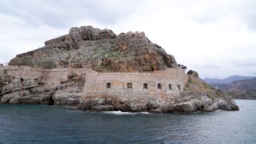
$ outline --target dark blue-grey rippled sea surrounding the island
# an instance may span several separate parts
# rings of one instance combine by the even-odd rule
[[[0,143],[256,143],[256,101],[236,103],[240,111],[193,114],[0,105]]]

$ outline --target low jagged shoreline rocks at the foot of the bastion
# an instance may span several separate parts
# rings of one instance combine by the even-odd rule
[[[216,91],[182,92],[176,97],[98,97],[83,100],[78,109],[152,113],[239,110],[231,97],[217,96]]]

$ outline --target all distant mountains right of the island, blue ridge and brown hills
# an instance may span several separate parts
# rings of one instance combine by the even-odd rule
[[[235,81],[230,82],[231,80]],[[234,99],[256,99],[256,78],[254,76],[229,76],[225,79],[206,78],[204,81],[214,88],[218,87],[225,91]]]

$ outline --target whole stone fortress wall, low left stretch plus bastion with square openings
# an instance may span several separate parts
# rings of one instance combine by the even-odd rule
[[[42,76],[43,81],[46,82],[45,86],[55,86],[65,82],[68,75],[74,72],[77,75],[85,76],[83,98],[104,95],[117,97],[174,96],[183,91],[185,83],[188,81],[188,75],[180,68],[168,68],[148,73],[97,73],[85,68],[39,69],[26,66],[5,66],[0,67],[1,71],[28,79]],[[131,88],[128,88],[127,83],[131,83]]]

